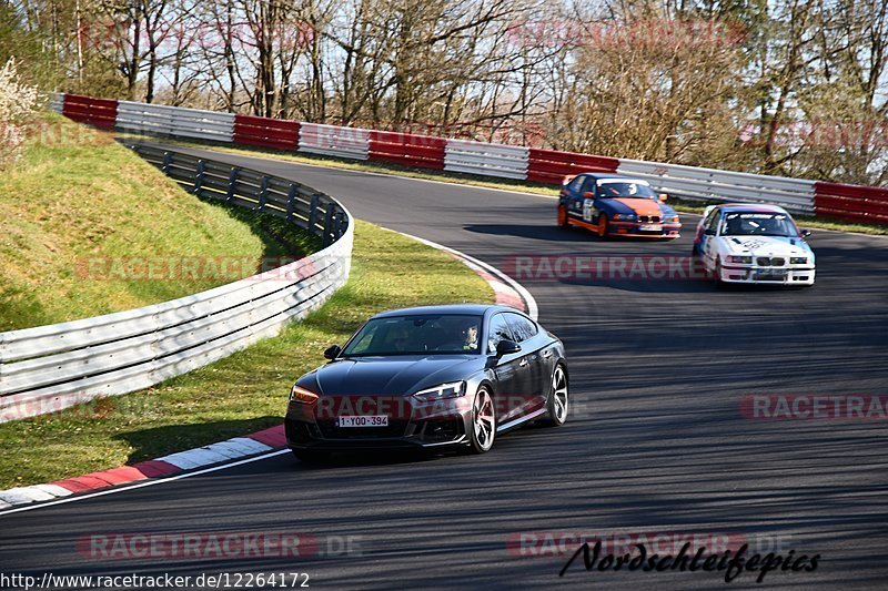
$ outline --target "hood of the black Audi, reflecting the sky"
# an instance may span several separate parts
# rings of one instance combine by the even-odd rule
[[[484,363],[480,355],[357,357],[326,364],[305,378],[313,377],[322,395],[406,395],[466,379]]]

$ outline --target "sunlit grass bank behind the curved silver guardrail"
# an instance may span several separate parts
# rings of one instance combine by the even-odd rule
[[[174,299],[313,249],[282,225],[201,201],[112,134],[42,114],[0,175],[0,332]],[[229,265],[175,271],[184,258]]]

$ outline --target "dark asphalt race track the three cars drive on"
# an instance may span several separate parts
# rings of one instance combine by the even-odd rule
[[[573,416],[558,429],[500,438],[484,456],[305,467],[279,455],[0,517],[4,570],[306,572],[311,587],[333,589],[724,588],[724,572],[586,572],[581,561],[559,579],[575,542],[568,553],[507,546],[522,533],[680,532],[821,557],[814,572],[770,572],[763,584],[745,572],[735,588],[885,588],[888,421],[751,420],[741,400],[888,394],[888,238],[815,230],[817,283],[801,291],[719,289],[669,276],[527,278],[513,257],[686,256],[697,218],[683,216],[675,242],[605,242],[556,227],[555,202],[541,196],[212,157],[304,182],[360,218],[512,273],[565,342]],[[303,532],[322,550],[354,537],[355,548],[264,560],[98,560],[77,550],[95,532],[212,531]],[[535,552],[543,556],[516,556]]]

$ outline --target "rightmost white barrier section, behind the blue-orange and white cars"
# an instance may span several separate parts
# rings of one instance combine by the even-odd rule
[[[685,200],[773,203],[794,213],[814,213],[814,181],[624,159],[617,172]]]

